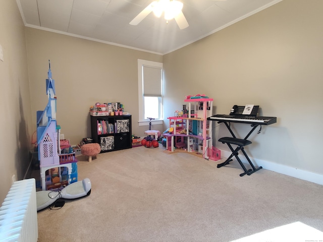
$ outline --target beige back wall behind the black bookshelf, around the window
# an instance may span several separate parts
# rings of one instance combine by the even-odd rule
[[[47,104],[45,79],[48,59],[57,96],[57,122],[71,144],[91,137],[89,108],[96,102],[121,102],[132,115],[132,133],[138,126],[137,59],[163,62],[163,56],[26,28],[32,120]],[[161,128],[162,126],[160,126]]]

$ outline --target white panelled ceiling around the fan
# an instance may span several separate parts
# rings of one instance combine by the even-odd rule
[[[17,0],[25,26],[166,54],[282,0],[181,0],[189,27],[150,13],[129,22],[152,0]]]

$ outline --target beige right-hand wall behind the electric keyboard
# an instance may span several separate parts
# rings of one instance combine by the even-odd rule
[[[165,106],[180,109],[185,95],[198,93],[214,99],[214,113],[229,114],[234,104],[260,105],[260,115],[278,122],[250,137],[250,156],[265,168],[323,174],[322,9],[319,0],[285,0],[165,55]],[[166,116],[172,114],[166,109]],[[241,137],[250,130],[232,126]],[[214,130],[215,140],[230,135],[224,125]]]

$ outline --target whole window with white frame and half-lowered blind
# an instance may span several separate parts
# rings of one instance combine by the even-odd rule
[[[139,126],[163,124],[163,63],[138,59],[138,97]]]

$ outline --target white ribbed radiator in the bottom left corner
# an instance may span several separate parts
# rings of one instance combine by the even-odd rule
[[[36,181],[15,181],[0,208],[0,241],[38,239]]]

